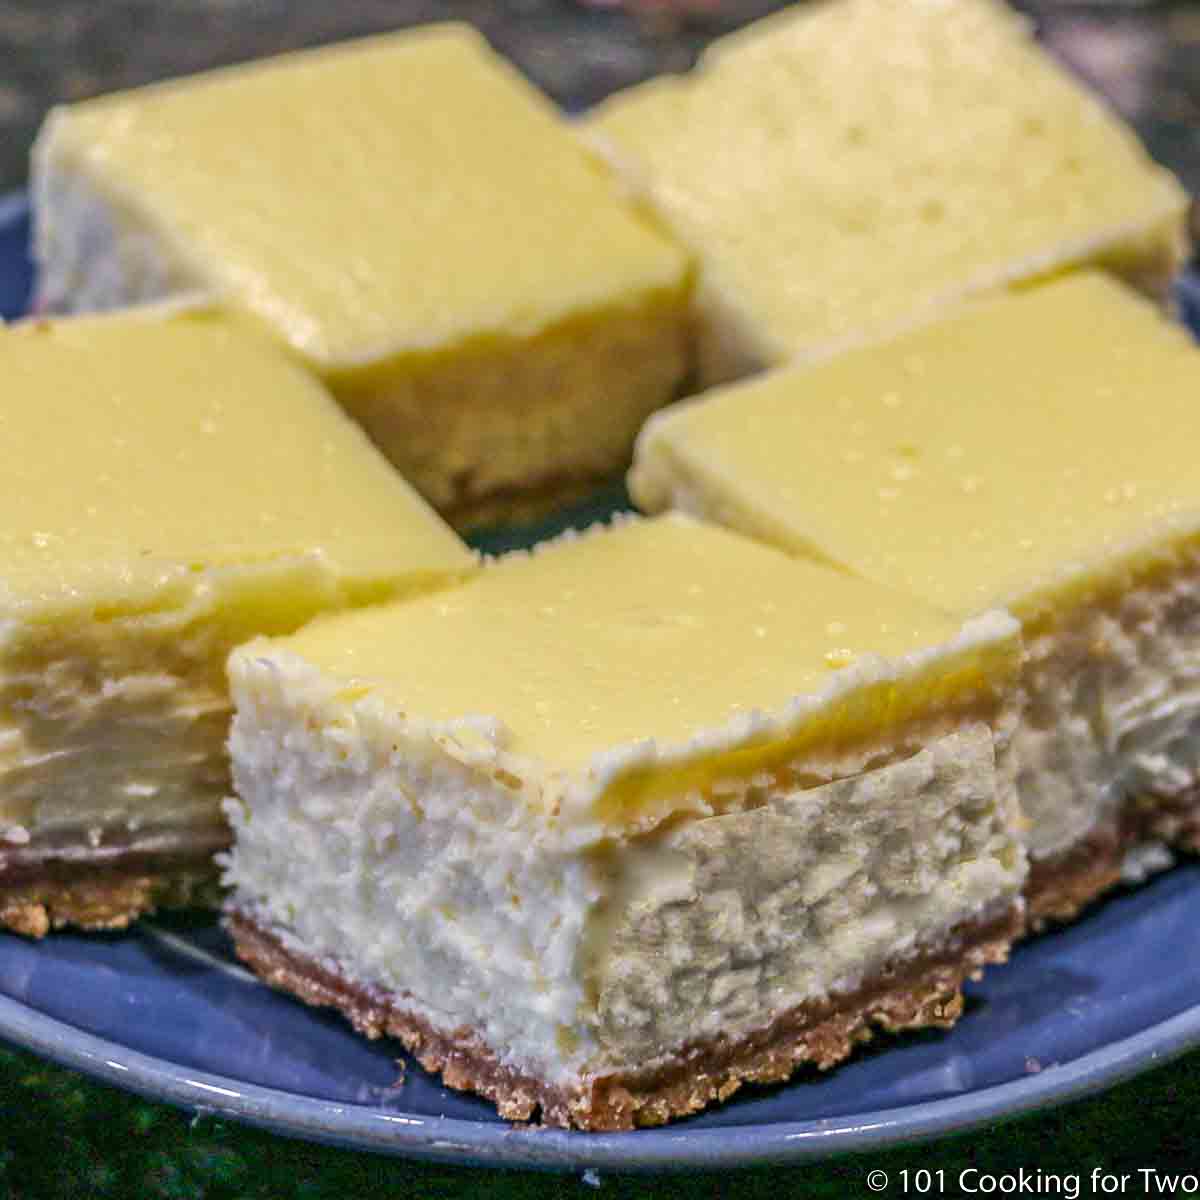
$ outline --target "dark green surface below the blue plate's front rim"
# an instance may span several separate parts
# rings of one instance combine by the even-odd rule
[[[0,1187],[13,1198],[205,1198],[205,1200],[352,1200],[454,1196],[466,1200],[610,1200],[671,1196],[739,1200],[878,1195],[900,1200],[901,1172],[944,1170],[943,1195],[960,1172],[1043,1180],[1079,1175],[1080,1196],[1094,1193],[1093,1169],[1128,1175],[1126,1196],[1142,1195],[1139,1170],[1200,1171],[1198,1102],[1192,1056],[1081,1104],[924,1146],[803,1166],[713,1175],[599,1176],[500,1174],[430,1166],[288,1141],[270,1134],[192,1120],[122,1092],[85,1082],[28,1055],[0,1051]],[[886,1171],[872,1192],[866,1178]],[[967,1184],[980,1176],[967,1177]],[[1069,1195],[1069,1192],[1042,1194]],[[929,1195],[940,1194],[936,1188]],[[998,1193],[994,1193],[996,1195]],[[1020,1194],[1020,1193],[1015,1193]],[[1028,1196],[1031,1190],[1024,1195]],[[1121,1193],[1115,1193],[1120,1195]]]

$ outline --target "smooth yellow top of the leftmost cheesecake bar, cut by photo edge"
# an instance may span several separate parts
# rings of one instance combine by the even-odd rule
[[[319,383],[211,313],[10,325],[0,378],[0,616],[294,557],[385,594],[470,569]]]

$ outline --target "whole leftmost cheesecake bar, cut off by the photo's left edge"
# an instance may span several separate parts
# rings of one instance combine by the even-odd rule
[[[229,649],[473,558],[212,313],[10,325],[0,374],[0,923],[119,928],[215,895]]]

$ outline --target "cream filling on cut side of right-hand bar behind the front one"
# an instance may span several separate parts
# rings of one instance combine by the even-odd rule
[[[1188,558],[1031,637],[1024,688],[1014,751],[1033,858],[1070,850],[1128,797],[1196,787],[1200,565]]]

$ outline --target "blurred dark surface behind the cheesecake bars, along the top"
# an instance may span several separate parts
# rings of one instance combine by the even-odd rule
[[[634,0],[635,4],[638,0]],[[690,17],[673,8],[691,8]],[[686,67],[770,0],[641,0],[640,16],[576,0],[0,0],[0,191],[59,101],[317,42],[457,18],[559,102]],[[1046,43],[1200,192],[1200,4],[1021,0]]]

